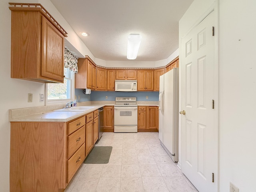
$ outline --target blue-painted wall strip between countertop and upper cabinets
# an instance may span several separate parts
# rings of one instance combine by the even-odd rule
[[[115,92],[115,91],[92,91],[91,94],[83,94],[82,89],[75,89],[76,99],[80,95],[78,102],[84,101],[114,101],[116,97],[136,97],[137,101],[158,101],[158,91],[138,91],[138,92]],[[108,96],[108,99],[106,99]],[[146,99],[148,96],[148,99]]]

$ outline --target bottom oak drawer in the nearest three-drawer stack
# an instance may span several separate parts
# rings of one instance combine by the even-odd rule
[[[68,174],[67,174],[67,182],[70,182],[80,165],[83,163],[85,158],[85,144],[75,152],[72,157],[68,160]]]

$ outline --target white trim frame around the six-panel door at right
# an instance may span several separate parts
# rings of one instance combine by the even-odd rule
[[[196,22],[194,22],[194,24],[192,25],[192,27],[184,34],[184,36],[182,36],[179,40],[180,42],[180,46],[182,46],[181,42],[182,39],[192,30],[194,29],[198,24],[200,24],[200,22],[202,22],[202,20],[204,20],[204,18],[206,18],[213,10],[214,10],[214,36],[215,41],[214,41],[214,137],[217,138],[216,142],[217,142],[217,167],[216,167],[216,171],[217,173],[214,175],[214,180],[217,182],[217,190],[218,192],[220,192],[220,128],[219,128],[219,105],[220,105],[220,86],[219,86],[219,10],[218,10],[218,4],[219,1],[216,0],[209,8],[208,10],[206,10],[206,12],[204,12],[204,14],[198,18],[198,20],[196,20]],[[180,65],[182,64],[182,47],[180,48],[180,53],[179,53],[179,63]],[[182,80],[182,71],[179,70],[179,82],[181,82]],[[181,93],[181,83],[179,83],[179,93]],[[179,111],[181,111],[181,94],[179,94]],[[181,151],[181,118],[182,116],[179,116],[179,149],[178,149],[178,154],[179,154],[179,161],[178,161],[178,168],[181,170],[182,168],[182,164],[181,164],[181,159],[182,159],[182,151]]]

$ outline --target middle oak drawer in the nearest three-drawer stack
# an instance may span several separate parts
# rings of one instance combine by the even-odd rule
[[[85,142],[85,126],[68,136],[68,158]]]

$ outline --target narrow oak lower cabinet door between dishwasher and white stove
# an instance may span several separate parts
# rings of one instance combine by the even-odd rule
[[[104,132],[114,132],[114,106],[104,106]]]

